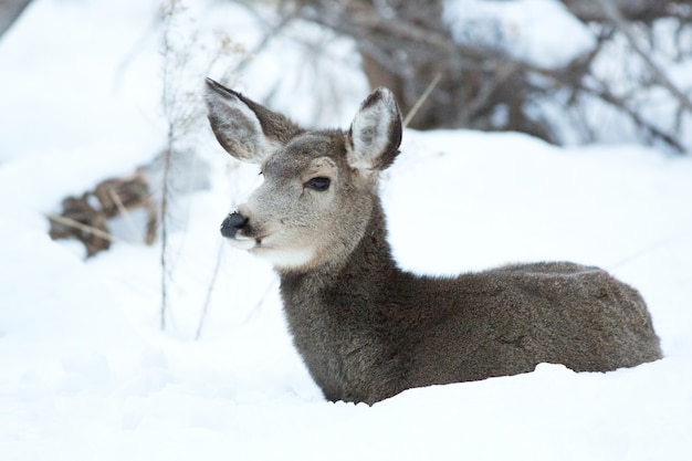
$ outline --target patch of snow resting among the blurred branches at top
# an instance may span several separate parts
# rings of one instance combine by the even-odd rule
[[[562,69],[596,48],[589,29],[556,0],[445,0],[444,19],[457,43],[545,69]]]

